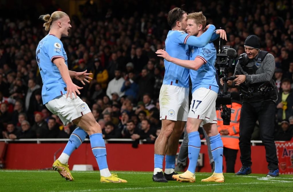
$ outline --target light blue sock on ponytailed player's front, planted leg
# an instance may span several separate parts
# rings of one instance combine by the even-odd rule
[[[102,133],[95,133],[90,135],[91,148],[93,155],[96,157],[99,169],[108,168],[106,145]]]

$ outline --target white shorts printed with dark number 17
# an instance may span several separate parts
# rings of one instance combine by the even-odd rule
[[[217,123],[216,99],[218,94],[207,88],[199,88],[192,94],[188,117],[202,119],[202,125]]]

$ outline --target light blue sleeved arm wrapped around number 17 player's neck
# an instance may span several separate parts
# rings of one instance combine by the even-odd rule
[[[205,47],[207,43],[211,40],[212,34],[215,30],[214,25],[208,25],[208,29],[200,37],[195,37],[193,35],[187,35],[184,40],[184,44],[188,44],[195,47]]]

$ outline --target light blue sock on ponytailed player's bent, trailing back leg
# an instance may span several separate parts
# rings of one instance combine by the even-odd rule
[[[71,133],[63,152],[70,156],[71,153],[81,145],[87,135],[88,134],[82,128],[76,128]]]

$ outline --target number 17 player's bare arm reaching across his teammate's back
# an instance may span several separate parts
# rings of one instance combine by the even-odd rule
[[[204,61],[202,59],[197,58],[197,57],[195,58],[195,60],[181,60],[181,59],[177,59],[175,57],[171,57],[163,49],[157,50],[156,54],[158,54],[157,56],[159,56],[159,57],[163,57],[166,61],[170,61],[176,65],[180,65],[180,66],[188,68],[188,69],[197,70],[204,64]]]

